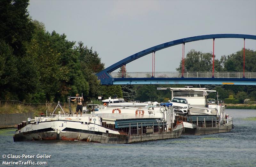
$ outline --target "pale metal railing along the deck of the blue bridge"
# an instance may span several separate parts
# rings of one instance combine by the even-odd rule
[[[181,78],[181,72],[110,72],[113,78]],[[256,78],[256,72],[214,72],[214,78]],[[184,78],[212,78],[212,72],[184,72]]]

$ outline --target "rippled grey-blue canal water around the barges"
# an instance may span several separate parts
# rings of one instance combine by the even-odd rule
[[[4,129],[0,130],[0,166],[256,166],[256,110],[226,109],[226,113],[233,116],[234,129],[229,133],[182,135],[177,139],[134,144],[13,142],[16,129]],[[11,154],[16,158],[3,158]],[[22,155],[34,158],[22,158]],[[44,155],[51,157],[44,158]],[[46,162],[47,165],[4,165],[4,161]]]

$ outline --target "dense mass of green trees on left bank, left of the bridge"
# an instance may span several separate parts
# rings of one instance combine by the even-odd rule
[[[65,34],[45,30],[29,17],[28,0],[0,1],[0,99],[22,102],[65,102],[83,93],[123,97],[121,86],[101,86],[92,72],[104,69],[97,53]]]

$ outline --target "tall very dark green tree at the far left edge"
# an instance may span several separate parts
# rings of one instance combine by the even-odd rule
[[[26,45],[30,42],[34,32],[34,24],[28,18],[28,0],[3,0],[0,1],[0,40],[1,60],[5,72],[1,75],[1,98],[23,100],[26,95],[34,90],[31,80],[34,74],[26,73],[30,59],[25,57]],[[30,78],[31,77],[31,78]],[[1,91],[2,94],[2,91]]]

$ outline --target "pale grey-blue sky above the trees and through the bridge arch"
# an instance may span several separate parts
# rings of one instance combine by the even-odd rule
[[[144,49],[181,38],[256,35],[256,0],[30,0],[28,12],[32,19],[43,22],[47,31],[55,30],[66,34],[69,41],[92,47],[105,68]],[[186,43],[185,55],[191,49],[212,52],[212,45],[212,40]],[[215,39],[214,45],[214,54],[220,59],[241,50],[244,39]],[[256,50],[256,40],[245,40],[245,48]],[[174,72],[182,58],[182,44],[155,55],[155,72]],[[152,72],[152,54],[128,63],[126,70]]]

